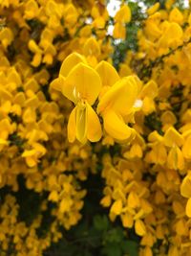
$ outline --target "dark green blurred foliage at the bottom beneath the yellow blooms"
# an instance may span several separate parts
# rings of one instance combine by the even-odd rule
[[[44,255],[138,256],[138,243],[129,240],[124,230],[109,221],[106,215],[96,215],[90,223],[83,219]]]

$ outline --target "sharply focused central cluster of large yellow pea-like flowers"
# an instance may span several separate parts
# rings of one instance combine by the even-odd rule
[[[133,119],[140,81],[135,76],[119,78],[116,69],[102,60],[92,68],[86,58],[71,54],[62,63],[59,77],[51,87],[71,100],[75,107],[70,114],[68,138],[85,143],[99,141],[102,129],[96,112],[103,119],[108,135],[119,141],[134,136],[134,129],[125,123]],[[96,112],[93,109],[98,98]],[[94,124],[94,126],[93,126]]]

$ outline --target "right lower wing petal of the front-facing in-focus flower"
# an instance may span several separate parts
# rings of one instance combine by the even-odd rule
[[[87,138],[92,142],[100,140],[102,135],[101,125],[95,110],[87,104]]]

